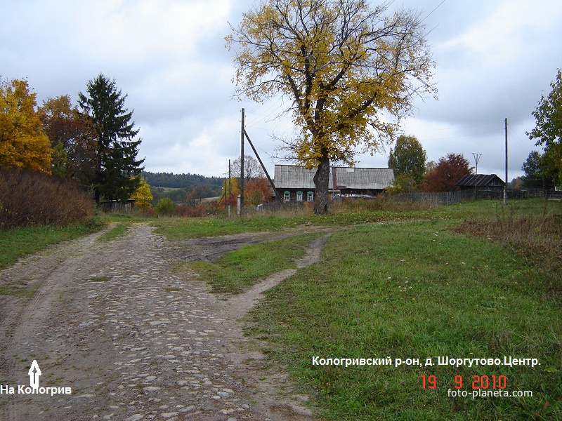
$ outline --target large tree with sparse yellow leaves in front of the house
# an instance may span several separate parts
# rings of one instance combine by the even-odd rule
[[[366,0],[267,0],[227,37],[238,95],[291,98],[301,133],[286,149],[317,168],[315,213],[329,211],[330,163],[376,152],[393,139],[412,99],[435,93],[419,15],[387,16],[387,8]]]

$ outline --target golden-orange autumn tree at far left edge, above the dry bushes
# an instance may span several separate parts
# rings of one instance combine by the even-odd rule
[[[51,173],[51,142],[27,81],[0,83],[0,166]]]

